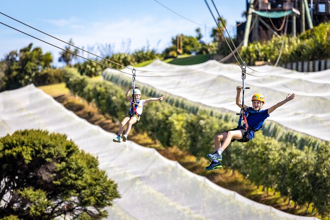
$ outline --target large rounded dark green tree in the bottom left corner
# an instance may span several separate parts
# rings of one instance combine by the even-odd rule
[[[0,219],[101,219],[120,195],[98,160],[66,135],[16,131],[0,138]]]

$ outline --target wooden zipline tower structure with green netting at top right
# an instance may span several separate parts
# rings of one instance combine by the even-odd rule
[[[285,32],[296,36],[330,20],[330,0],[246,0],[246,5],[246,22],[237,27],[244,45]]]

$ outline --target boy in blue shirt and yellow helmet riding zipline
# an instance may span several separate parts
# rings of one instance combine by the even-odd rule
[[[240,93],[242,91],[241,86],[236,87],[236,105],[242,108],[242,102],[240,100]],[[293,100],[295,94],[288,94],[287,98],[276,105],[273,105],[269,109],[261,110],[264,106],[264,96],[262,94],[254,94],[252,96],[252,107],[243,106],[246,110],[245,117],[247,119],[247,129],[246,125],[243,124],[239,128],[234,128],[224,133],[218,134],[214,139],[214,152],[206,155],[212,160],[211,164],[205,167],[205,170],[214,170],[221,168],[222,152],[229,146],[229,144],[235,140],[238,142],[248,142],[254,138],[254,133],[262,129],[264,120],[269,117],[269,114],[273,112],[278,107],[284,105],[285,103]],[[222,145],[221,145],[221,142]]]

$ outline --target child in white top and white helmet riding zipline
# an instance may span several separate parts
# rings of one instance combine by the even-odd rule
[[[125,134],[123,135],[123,141],[126,142],[127,136],[129,135],[132,125],[137,123],[140,120],[140,115],[142,114],[143,106],[144,104],[150,102],[150,101],[162,101],[165,99],[165,96],[161,96],[159,98],[150,98],[150,99],[142,99],[141,97],[141,91],[137,88],[135,88],[133,99],[131,97],[130,91],[133,89],[132,86],[130,86],[129,90],[126,91],[126,99],[130,101],[130,111],[126,115],[126,117],[123,119],[122,123],[120,124],[118,136],[113,139],[114,142],[121,142],[121,136],[124,131],[124,126],[127,124],[127,128],[125,131]]]

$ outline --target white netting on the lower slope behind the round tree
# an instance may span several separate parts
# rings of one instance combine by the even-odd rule
[[[121,198],[108,208],[108,220],[316,219],[290,215],[256,203],[187,171],[153,148],[131,141],[66,110],[33,85],[0,93],[0,136],[19,129],[66,134],[98,156],[99,166],[118,183]]]

